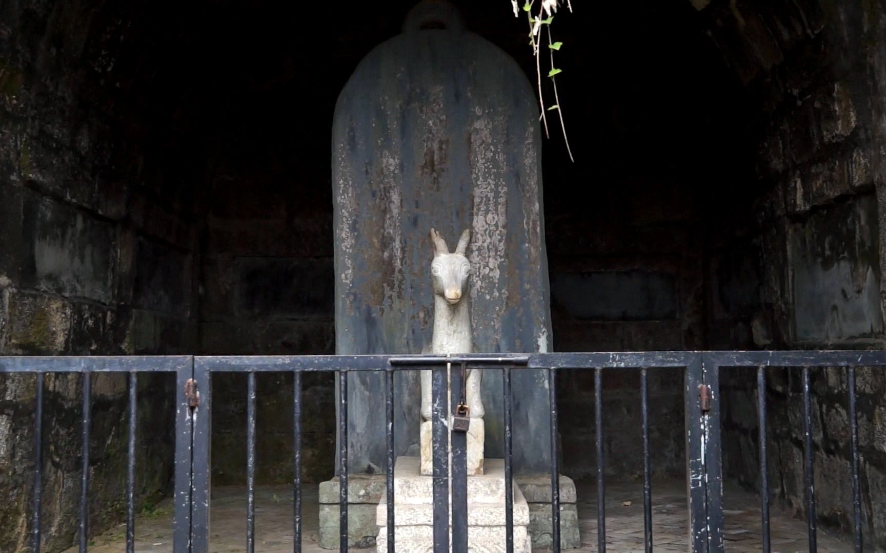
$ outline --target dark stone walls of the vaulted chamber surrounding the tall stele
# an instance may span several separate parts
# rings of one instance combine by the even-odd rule
[[[393,6],[396,17],[323,6],[323,17],[343,18],[323,52],[286,42],[295,19],[268,10],[176,6],[172,21],[162,3],[0,5],[0,354],[334,351],[330,114],[347,75],[411,4]],[[580,157],[568,162],[552,124],[553,349],[882,347],[881,3],[665,4],[633,14],[601,5],[595,33],[580,14],[558,19],[568,39],[560,95]],[[534,74],[523,22],[462,5]],[[251,41],[230,40],[244,32]],[[310,73],[305,85],[302,68],[317,66],[331,76]],[[599,78],[577,87],[568,75]],[[797,375],[771,374],[772,493],[799,511]],[[815,374],[820,513],[845,526],[845,381]],[[604,380],[613,475],[641,467],[639,431],[619,432],[639,428],[637,378]],[[651,378],[654,466],[680,474],[681,382]],[[593,378],[561,379],[561,412],[582,413],[561,422],[563,472],[580,478],[595,470],[583,414]],[[243,381],[215,384],[214,482],[235,482]],[[725,373],[723,386],[727,477],[754,486],[752,377]],[[152,461],[139,464],[138,489],[150,499],[171,477],[162,413],[171,417],[175,390],[162,379],[141,387],[151,422],[139,458]],[[291,379],[262,375],[259,387],[260,481],[285,481]],[[886,495],[883,387],[882,372],[859,372],[865,509],[881,535],[886,508],[872,497]],[[14,550],[29,525],[33,379],[0,376],[0,390],[0,493],[10,498],[0,549]],[[59,497],[44,503],[48,550],[74,537],[75,519],[59,515],[79,493],[79,390],[76,376],[47,381],[44,422],[56,430],[44,494]],[[95,530],[120,511],[123,390],[121,376],[93,382],[94,439],[112,436],[93,445]],[[305,421],[306,478],[323,480],[331,379],[306,379],[305,395],[306,413],[321,414]]]

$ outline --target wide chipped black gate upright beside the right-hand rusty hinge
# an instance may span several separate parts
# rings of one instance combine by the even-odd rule
[[[686,417],[686,485],[689,516],[688,551],[702,553],[708,549],[707,494],[704,488],[704,416],[699,386],[703,383],[702,355],[697,354],[684,373]]]

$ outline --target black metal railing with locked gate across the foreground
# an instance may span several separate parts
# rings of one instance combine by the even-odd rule
[[[338,374],[338,476],[339,476],[339,548],[348,550],[348,463],[347,463],[347,374],[370,371],[385,374],[385,441],[386,469],[386,537],[389,552],[394,551],[395,513],[394,465],[394,397],[393,373],[403,370],[432,371],[432,450],[433,450],[433,543],[434,551],[466,551],[468,545],[467,475],[465,434],[447,436],[447,364],[465,365],[472,370],[501,371],[504,425],[504,469],[507,482],[512,481],[511,468],[511,373],[525,369],[544,370],[548,376],[550,398],[550,481],[552,549],[561,549],[560,480],[557,457],[556,408],[557,374],[563,370],[594,370],[595,381],[595,446],[597,495],[597,548],[606,550],[606,508],[604,477],[604,434],[602,410],[602,377],[605,371],[633,370],[639,373],[641,393],[641,441],[643,459],[643,528],[644,547],[653,550],[651,461],[649,452],[649,389],[648,370],[653,368],[681,370],[684,375],[684,410],[686,417],[686,458],[688,479],[688,550],[720,552],[726,549],[723,522],[722,454],[720,450],[720,389],[722,367],[744,367],[757,370],[757,410],[759,418],[759,471],[762,550],[771,549],[769,536],[769,475],[767,459],[767,411],[765,368],[802,367],[804,416],[804,488],[809,550],[817,548],[816,500],[813,486],[812,390],[810,371],[816,367],[845,367],[848,380],[848,413],[851,428],[852,472],[852,539],[855,551],[863,550],[861,493],[859,486],[859,436],[855,387],[855,368],[886,366],[884,351],[713,351],[713,352],[626,352],[626,353],[548,353],[468,356],[259,356],[259,357],[0,357],[0,373],[35,373],[35,465],[32,498],[32,549],[41,545],[41,482],[43,470],[43,380],[48,373],[82,373],[82,476],[79,505],[78,538],[80,550],[88,549],[88,490],[91,373],[128,373],[128,459],[126,481],[126,548],[135,547],[135,476],[136,476],[136,400],[139,373],[166,372],[176,374],[177,401],[175,439],[175,508],[174,550],[199,552],[209,550],[210,525],[210,419],[212,412],[212,378],[214,373],[247,373],[246,390],[246,548],[255,548],[255,448],[256,448],[256,375],[258,373],[293,373],[293,543],[301,550],[302,496],[302,375],[303,373]],[[450,386],[458,389],[461,373],[451,372]],[[454,395],[455,396],[455,395]],[[453,398],[455,401],[455,397]],[[453,408],[450,405],[450,410]],[[12,434],[14,435],[14,433]],[[450,474],[447,442],[452,443]],[[452,512],[447,501],[452,485]],[[513,490],[505,486],[506,547],[513,542]],[[879,499],[879,498],[877,498]],[[451,515],[451,531],[450,531]]]

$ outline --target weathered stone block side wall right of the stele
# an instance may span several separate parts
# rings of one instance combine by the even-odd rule
[[[882,9],[873,4],[773,3],[702,12],[724,58],[759,106],[753,215],[718,234],[707,275],[709,349],[882,349]],[[741,19],[741,40],[727,41]],[[766,40],[761,36],[766,35]],[[732,37],[734,38],[734,36]],[[743,45],[743,46],[742,46]],[[754,197],[755,196],[755,197]],[[770,495],[804,513],[802,380],[769,369]],[[724,370],[724,472],[759,485],[756,371]],[[882,513],[882,370],[859,370],[866,532],[886,542]],[[812,371],[820,525],[851,529],[851,467],[843,370]]]

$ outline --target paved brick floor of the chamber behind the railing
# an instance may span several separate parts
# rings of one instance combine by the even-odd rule
[[[639,482],[609,483],[606,488],[607,550],[618,553],[643,551],[642,488]],[[590,484],[579,483],[579,524],[581,549],[596,551],[596,495]],[[760,551],[759,507],[755,495],[727,488],[726,526],[727,551]],[[657,483],[652,503],[653,544],[655,551],[687,550],[687,516],[685,488],[680,482]],[[256,551],[262,553],[291,552],[291,493],[286,487],[260,487],[256,490]],[[172,551],[172,504],[159,505],[152,515],[136,521],[136,551],[168,553]],[[304,491],[305,553],[329,553],[317,546],[317,487]],[[772,544],[774,553],[805,553],[808,551],[806,528],[802,520],[772,511]],[[217,488],[213,498],[213,538],[211,550],[217,553],[245,551],[245,489]],[[119,553],[123,546],[125,526],[97,536],[92,553]],[[846,553],[851,546],[819,533],[820,553]],[[69,549],[72,553],[76,549]],[[400,553],[400,552],[398,552]],[[408,552],[403,552],[408,553]]]

